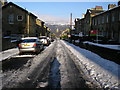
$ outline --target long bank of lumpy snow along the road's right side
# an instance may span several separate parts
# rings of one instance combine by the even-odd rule
[[[120,88],[120,65],[68,42],[61,42],[78,58],[75,62],[81,65],[91,80],[97,81],[103,88]]]

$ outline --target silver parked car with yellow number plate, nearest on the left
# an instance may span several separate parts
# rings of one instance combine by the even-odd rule
[[[22,38],[22,42],[18,46],[20,54],[23,52],[39,53],[44,47],[37,37]]]

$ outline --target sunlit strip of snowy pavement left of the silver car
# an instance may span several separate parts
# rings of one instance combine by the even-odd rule
[[[8,49],[5,51],[0,52],[0,61],[5,60],[13,55],[16,55],[19,53],[18,48],[12,48],[12,49]]]

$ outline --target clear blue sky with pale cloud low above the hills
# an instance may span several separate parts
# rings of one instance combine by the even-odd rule
[[[55,23],[69,23],[70,14],[72,13],[72,20],[74,22],[75,18],[82,18],[82,14],[86,13],[89,8],[95,8],[95,6],[102,6],[103,9],[107,10],[108,4],[117,4],[116,2],[41,2],[41,1],[30,1],[26,2],[18,0],[8,0],[8,2],[14,2],[20,7],[32,12],[39,19],[45,22],[55,22]],[[115,0],[114,0],[115,1]]]

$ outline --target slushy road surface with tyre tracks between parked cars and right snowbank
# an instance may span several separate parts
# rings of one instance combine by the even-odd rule
[[[74,55],[56,40],[38,55],[16,55],[2,62],[5,88],[92,89]]]

